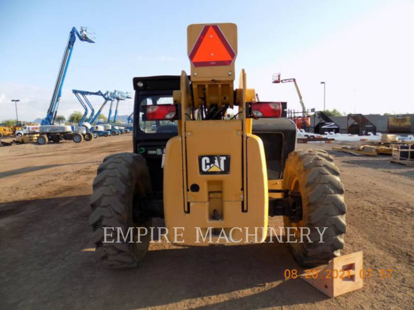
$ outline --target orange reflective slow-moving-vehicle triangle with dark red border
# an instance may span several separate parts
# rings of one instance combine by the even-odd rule
[[[229,66],[236,53],[219,26],[206,25],[188,57],[194,67]]]

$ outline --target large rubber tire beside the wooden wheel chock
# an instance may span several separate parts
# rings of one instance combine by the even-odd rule
[[[295,181],[297,180],[297,182]],[[332,258],[340,255],[344,248],[344,234],[347,230],[344,203],[344,186],[339,179],[339,169],[333,158],[323,150],[301,150],[289,154],[283,172],[282,187],[296,189],[301,193],[303,219],[292,223],[288,217],[283,217],[285,234],[286,227],[308,227],[310,240],[295,236],[297,243],[288,243],[290,250],[299,264],[317,266],[326,264]],[[291,188],[291,186],[295,188]],[[319,243],[320,231],[323,233],[323,243]],[[293,231],[291,231],[292,233]],[[292,241],[292,237],[290,240]]]

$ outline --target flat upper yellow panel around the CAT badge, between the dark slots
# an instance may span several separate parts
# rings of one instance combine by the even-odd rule
[[[224,201],[243,201],[242,121],[189,121],[185,124],[188,187],[191,184],[200,186],[198,192],[188,192],[188,201],[208,201],[212,192],[221,192]],[[200,174],[199,157],[202,155],[229,156],[224,159],[230,161],[229,173]],[[218,166],[208,158],[201,162],[203,164],[207,166],[204,168],[209,168],[207,170],[220,170],[221,160],[217,160]]]

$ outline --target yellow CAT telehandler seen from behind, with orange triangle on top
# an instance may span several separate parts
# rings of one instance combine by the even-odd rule
[[[236,24],[187,34],[190,76],[133,79],[134,152],[106,157],[93,183],[96,252],[110,267],[140,265],[154,217],[167,240],[209,246],[266,242],[269,216],[283,216],[301,265],[339,256],[346,205],[332,157],[296,151],[296,125],[279,102],[255,100],[244,69],[234,89]]]

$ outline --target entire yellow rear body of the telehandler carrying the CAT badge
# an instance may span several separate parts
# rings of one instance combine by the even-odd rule
[[[186,245],[231,245],[245,244],[246,240],[247,243],[264,241],[267,235],[268,190],[262,141],[259,137],[248,134],[248,177],[247,184],[243,187],[241,121],[200,121],[187,124],[191,125],[188,125],[189,131],[185,137],[186,160],[183,160],[181,152],[181,137],[170,139],[166,146],[164,217],[169,240],[174,240],[174,227],[182,227],[179,232],[183,236],[178,241],[184,241],[183,244]],[[228,174],[200,174],[199,157],[212,154],[230,156]],[[183,193],[181,168],[185,162],[188,189],[184,193],[187,193],[187,199]],[[199,186],[197,192],[190,190],[192,184]],[[243,212],[245,193],[247,211]],[[185,200],[188,212],[185,212]],[[259,229],[255,231],[255,227]],[[211,239],[203,241],[202,236],[206,236],[209,228],[213,232],[214,229],[219,232],[224,229],[227,239],[224,235],[219,238],[219,234],[212,234]],[[246,238],[246,231],[251,236]],[[243,241],[237,242],[239,240]]]

